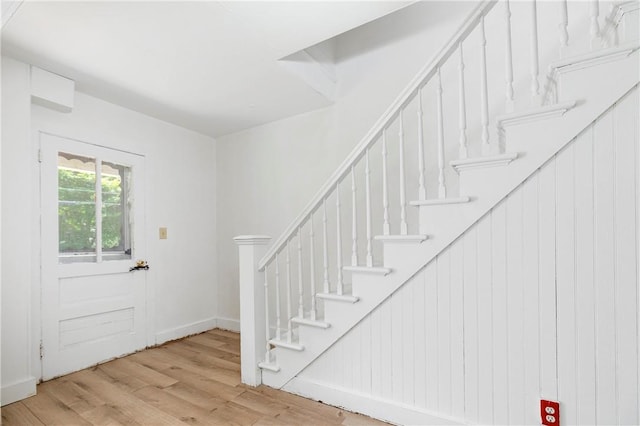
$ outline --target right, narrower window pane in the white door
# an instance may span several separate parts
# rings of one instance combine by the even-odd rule
[[[103,258],[130,259],[128,193],[131,169],[103,162],[101,172]]]

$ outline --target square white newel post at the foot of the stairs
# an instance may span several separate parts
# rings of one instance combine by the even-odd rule
[[[241,235],[234,238],[238,244],[240,266],[240,370],[242,383],[258,386],[262,375],[258,363],[264,355],[265,294],[264,273],[258,271],[258,262],[265,254],[271,237]]]

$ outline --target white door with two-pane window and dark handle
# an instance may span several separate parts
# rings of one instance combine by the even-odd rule
[[[144,157],[45,133],[42,378],[146,346]]]

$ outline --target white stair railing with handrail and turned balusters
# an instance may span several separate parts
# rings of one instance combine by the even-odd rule
[[[501,147],[497,140],[492,141],[489,128],[490,109],[488,71],[487,71],[487,39],[485,36],[485,20],[489,12],[496,5],[498,0],[485,0],[479,2],[472,13],[464,21],[463,25],[456,31],[444,48],[433,57],[429,63],[422,68],[418,75],[402,91],[400,96],[391,104],[386,112],[374,124],[366,136],[356,145],[338,169],[331,175],[322,188],[313,197],[312,201],[305,207],[302,213],[287,227],[283,234],[274,242],[266,254],[256,263],[254,257],[247,257],[247,268],[254,268],[255,274],[250,277],[250,285],[253,287],[257,280],[263,282],[263,292],[256,295],[264,303],[264,308],[259,307],[261,315],[264,315],[263,330],[256,335],[264,337],[258,340],[264,348],[264,362],[260,363],[262,368],[277,371],[279,367],[272,360],[272,345],[280,345],[291,349],[302,350],[303,346],[297,342],[294,324],[306,322],[308,325],[318,327],[328,327],[323,323],[322,313],[318,309],[316,291],[321,289],[318,295],[332,295],[334,298],[348,296],[349,288],[345,284],[344,270],[359,268],[375,269],[377,256],[373,246],[374,225],[379,224],[383,237],[391,237],[392,230],[397,231],[393,237],[402,239],[409,238],[412,225],[408,221],[407,212],[407,186],[415,188],[416,199],[427,200],[428,187],[433,188],[433,193],[437,193],[434,203],[438,200],[446,202],[450,197],[450,188],[447,182],[445,145],[445,131],[451,126],[445,126],[445,113],[443,106],[443,68],[450,61],[455,69],[454,81],[457,81],[455,106],[457,109],[456,130],[459,133],[455,152],[458,159],[465,160],[469,157],[468,135],[470,130],[477,131],[480,140],[479,152],[482,156],[493,156],[501,154]],[[513,68],[513,47],[512,47],[512,16],[511,7],[508,0],[501,0],[502,18],[504,25],[504,51],[505,51],[505,95],[500,101],[501,112],[510,113],[514,109],[514,68]],[[538,53],[538,12],[537,3],[531,0],[528,9],[529,23],[527,24],[529,37],[530,75],[528,77],[531,92],[531,104],[540,106],[544,94],[541,93],[539,84],[539,53]],[[569,41],[567,1],[559,0],[557,27],[559,32],[560,52],[563,55]],[[598,1],[589,3],[590,10],[590,34],[593,37],[592,44],[597,42],[599,35],[598,25]],[[524,25],[524,24],[523,24]],[[469,78],[465,72],[465,50],[467,39],[476,32],[478,39],[477,47],[479,56],[479,66],[475,78],[479,79],[479,116],[478,123],[469,128],[467,114],[469,105],[467,102],[467,90],[465,89],[465,79]],[[468,49],[469,47],[467,47]],[[447,65],[448,66],[448,65]],[[474,70],[475,71],[475,70]],[[447,77],[447,76],[445,76]],[[451,77],[451,76],[449,76]],[[521,79],[522,80],[522,79]],[[425,141],[424,128],[424,96],[423,92],[429,86],[435,95],[435,113],[430,117],[435,117],[435,135],[432,144]],[[503,103],[502,103],[503,102]],[[494,104],[495,104],[494,100]],[[432,108],[433,108],[433,105]],[[411,106],[411,108],[410,108]],[[415,110],[417,120],[411,122],[415,128],[407,125],[407,112]],[[411,129],[411,138],[407,137],[407,131]],[[430,130],[430,129],[429,129]],[[395,133],[394,133],[395,132]],[[431,134],[429,134],[431,135]],[[417,161],[413,165],[415,169],[412,174],[415,182],[407,183],[405,170],[406,150],[409,139],[414,140],[415,146],[412,151],[416,152]],[[397,144],[395,154],[389,152],[390,143]],[[427,147],[433,152],[434,171],[425,164]],[[380,181],[377,191],[372,191],[374,182],[371,156],[379,154],[379,173],[374,177]],[[358,171],[362,173],[358,173]],[[393,173],[391,172],[393,171]],[[433,173],[433,178],[429,173]],[[397,181],[396,181],[397,180]],[[364,194],[359,197],[358,182],[364,181]],[[392,186],[395,189],[391,189]],[[349,193],[347,194],[347,191]],[[397,198],[397,203],[390,203],[391,196]],[[379,198],[380,210],[373,209],[374,199]],[[443,201],[444,200],[444,201]],[[394,201],[395,202],[395,201]],[[362,213],[359,204],[364,204]],[[330,206],[335,206],[333,211],[329,211]],[[360,212],[360,213],[358,213]],[[350,216],[350,220],[345,220],[345,216]],[[397,217],[397,222],[392,222],[391,218]],[[359,224],[362,220],[364,225]],[[358,232],[364,227],[364,232]],[[350,228],[350,239],[346,239],[343,229]],[[320,235],[316,238],[316,235]],[[249,237],[251,240],[252,237]],[[360,244],[364,239],[365,244]],[[259,244],[265,244],[264,239]],[[245,244],[245,243],[242,243]],[[317,245],[321,250],[316,251]],[[291,247],[293,246],[293,247]],[[293,256],[291,254],[293,248]],[[335,265],[331,259],[331,254],[335,257]],[[362,256],[363,255],[363,256]],[[345,258],[350,258],[350,266],[345,266]],[[284,259],[284,261],[283,261]],[[364,259],[360,264],[360,259]],[[241,259],[241,263],[243,260]],[[333,267],[332,267],[333,266]],[[241,269],[244,266],[241,264]],[[258,273],[261,272],[261,274]],[[284,274],[283,274],[284,271]],[[296,278],[297,277],[297,278]],[[297,286],[293,285],[296,280]],[[318,282],[318,285],[316,283]],[[321,282],[321,284],[320,284]],[[241,282],[241,286],[242,286]],[[305,293],[308,287],[309,293]],[[283,294],[284,293],[284,294]],[[264,298],[264,299],[262,299]],[[284,300],[284,309],[282,302]],[[296,302],[297,301],[297,302]],[[274,302],[274,303],[270,303]],[[242,300],[241,300],[242,303]],[[260,303],[252,302],[255,306]],[[297,303],[293,307],[292,303]],[[274,312],[270,312],[269,307],[275,305]],[[284,310],[286,314],[282,318]],[[243,310],[244,312],[244,310]],[[256,311],[257,314],[258,311]],[[294,316],[295,315],[295,316]],[[272,321],[273,319],[273,321]],[[242,319],[241,322],[244,322]],[[254,324],[251,321],[252,326]],[[270,338],[274,336],[273,338]],[[256,343],[257,341],[256,340]],[[253,344],[255,347],[256,345]],[[244,350],[243,350],[244,352]],[[255,359],[252,358],[252,359]],[[243,360],[244,363],[244,360]],[[255,368],[255,364],[252,368]],[[243,370],[244,371],[244,370]],[[243,381],[244,375],[243,375]],[[245,381],[246,382],[246,381]]]

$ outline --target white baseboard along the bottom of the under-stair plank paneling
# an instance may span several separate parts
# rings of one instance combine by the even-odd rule
[[[350,389],[320,383],[300,377],[293,378],[284,387],[295,393],[325,404],[365,414],[387,422],[402,425],[463,425],[463,421],[408,406],[388,399],[375,398]]]

